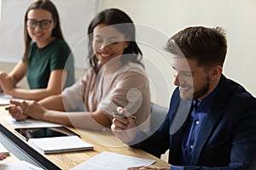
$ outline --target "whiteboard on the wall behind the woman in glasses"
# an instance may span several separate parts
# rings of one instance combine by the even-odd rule
[[[0,0],[0,61],[17,63],[24,53],[23,26],[33,0]],[[58,10],[63,36],[73,50],[76,68],[83,69],[87,56],[84,41],[90,20],[101,0],[52,0]]]

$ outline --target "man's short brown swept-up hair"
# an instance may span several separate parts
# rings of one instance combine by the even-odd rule
[[[223,66],[227,53],[225,31],[221,27],[188,27],[169,39],[166,50],[172,54],[196,59],[199,66],[206,68]]]

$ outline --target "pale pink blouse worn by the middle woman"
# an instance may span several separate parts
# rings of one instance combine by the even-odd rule
[[[96,75],[90,68],[78,82],[62,92],[66,110],[84,104],[84,111],[101,110],[112,121],[118,106],[137,116],[137,126],[149,129],[150,91],[142,65],[124,65],[116,59],[103,65]]]

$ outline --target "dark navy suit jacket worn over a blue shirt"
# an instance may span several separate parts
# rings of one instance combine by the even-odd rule
[[[181,144],[188,116],[185,116],[177,132],[170,134],[172,123],[178,119],[174,117],[181,114],[177,113],[179,103],[179,91],[176,88],[165,122],[148,139],[138,144],[133,143],[132,147],[146,150],[154,156],[160,156],[170,149],[169,163],[183,166]],[[256,99],[241,85],[222,76],[202,131],[199,133],[198,143],[195,144],[192,163],[184,166],[184,169],[256,170],[255,153]]]

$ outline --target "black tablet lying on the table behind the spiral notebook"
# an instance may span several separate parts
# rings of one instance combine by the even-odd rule
[[[67,127],[29,127],[15,128],[15,132],[19,133],[24,139],[49,138],[59,136],[72,136],[79,134],[74,133]]]

